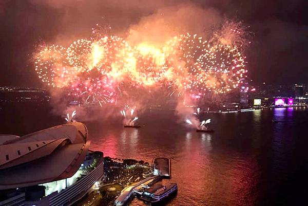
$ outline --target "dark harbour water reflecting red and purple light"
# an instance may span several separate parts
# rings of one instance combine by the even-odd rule
[[[29,111],[20,111],[14,114],[22,116],[20,120],[8,118],[13,126],[1,120],[5,126],[0,133],[27,134],[46,128],[44,120],[52,121],[50,126],[63,123],[60,118],[44,119],[45,111],[27,117],[23,113]],[[166,205],[306,205],[308,109],[201,116],[212,119],[209,127],[215,133],[196,133],[172,111],[162,110],[140,116],[145,126],[139,129],[106,121],[85,123],[92,149],[104,156],[171,159],[172,182],[179,191]],[[130,205],[145,204],[134,199]]]

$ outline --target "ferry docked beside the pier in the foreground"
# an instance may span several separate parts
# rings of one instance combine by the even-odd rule
[[[163,201],[177,194],[177,192],[177,183],[170,183],[168,186],[156,183],[151,185],[150,188],[144,190],[142,195],[138,195],[138,198],[150,202],[151,205],[161,205]]]

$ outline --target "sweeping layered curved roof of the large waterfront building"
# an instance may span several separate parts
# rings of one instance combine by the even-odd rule
[[[71,177],[88,152],[87,128],[75,122],[0,144],[0,190]]]

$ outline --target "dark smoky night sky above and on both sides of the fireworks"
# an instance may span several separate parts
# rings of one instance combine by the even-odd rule
[[[180,15],[177,9],[182,4],[205,11],[195,22],[206,23],[211,13],[250,26],[254,35],[245,54],[248,76],[256,83],[308,83],[305,0],[1,0],[0,86],[41,86],[31,62],[40,41],[52,44],[87,37],[97,23],[125,34],[132,25],[155,19],[161,10]]]

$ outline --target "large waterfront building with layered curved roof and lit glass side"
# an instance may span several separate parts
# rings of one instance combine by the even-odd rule
[[[0,206],[71,205],[97,188],[103,153],[80,122],[26,136],[0,135]]]

